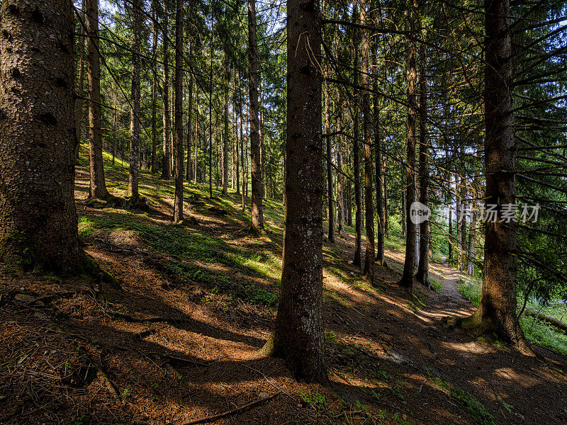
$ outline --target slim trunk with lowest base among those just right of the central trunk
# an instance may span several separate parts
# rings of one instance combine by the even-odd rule
[[[366,0],[360,1],[360,23],[366,25]],[[362,30],[362,108],[364,113],[364,217],[366,220],[366,253],[364,254],[364,276],[374,283],[374,205],[372,199],[372,117],[370,111],[370,74],[368,30]]]

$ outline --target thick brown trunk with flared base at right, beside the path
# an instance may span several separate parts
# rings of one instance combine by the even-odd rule
[[[532,354],[516,315],[517,223],[500,221],[516,200],[510,0],[485,0],[485,30],[485,202],[497,214],[485,223],[481,304],[462,324]]]

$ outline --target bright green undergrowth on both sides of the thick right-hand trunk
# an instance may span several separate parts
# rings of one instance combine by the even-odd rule
[[[481,283],[461,278],[457,281],[457,289],[473,305],[476,307],[480,305],[482,295]],[[521,300],[518,300],[518,305],[521,305]],[[532,308],[536,308],[542,313],[556,317],[559,320],[566,317],[563,307],[541,307],[532,304]],[[520,317],[520,326],[528,341],[567,355],[567,335],[563,331],[526,314],[522,314]]]

